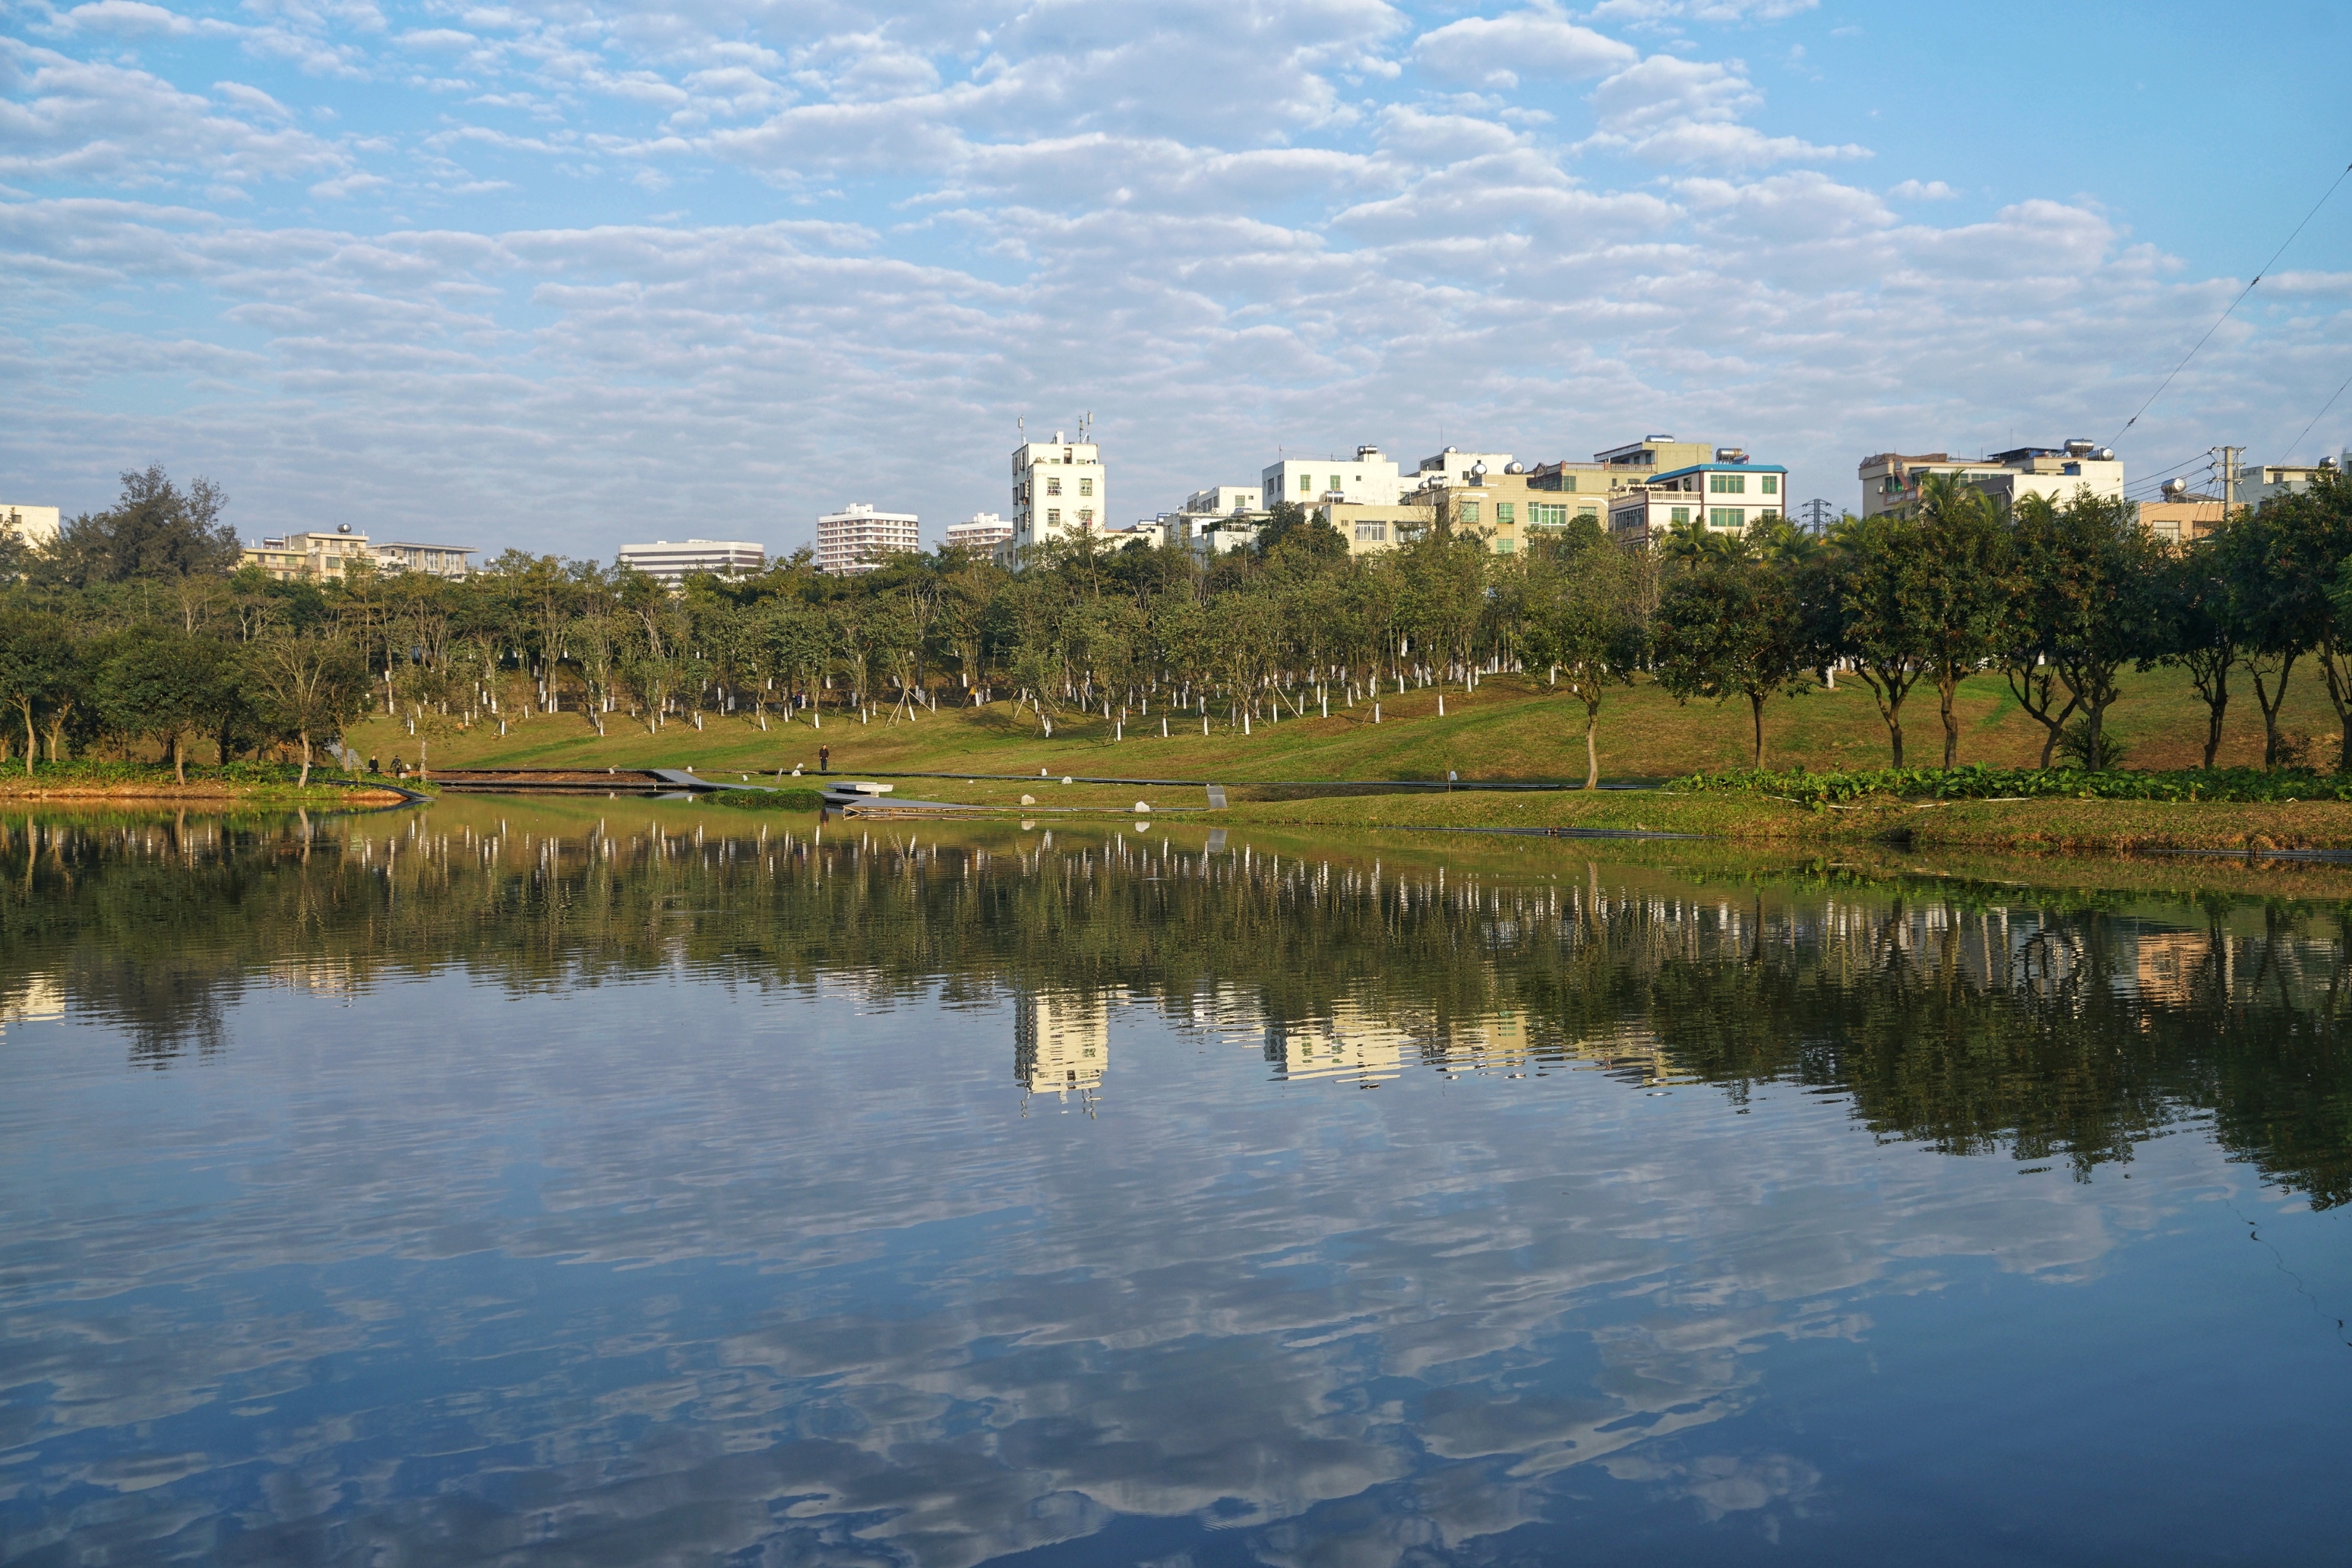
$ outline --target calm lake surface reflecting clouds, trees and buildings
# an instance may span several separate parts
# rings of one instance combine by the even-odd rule
[[[1618,853],[0,818],[0,1561],[2345,1561],[2352,905]]]

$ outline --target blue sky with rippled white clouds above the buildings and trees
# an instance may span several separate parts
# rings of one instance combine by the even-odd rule
[[[936,543],[1087,414],[1112,524],[1367,442],[1672,433],[1837,508],[1889,449],[2314,461],[2347,52],[2312,0],[0,0],[0,503]]]

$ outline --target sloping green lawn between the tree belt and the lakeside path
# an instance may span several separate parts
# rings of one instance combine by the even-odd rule
[[[583,715],[560,712],[459,729],[428,719],[426,733],[372,717],[355,726],[350,743],[390,766],[409,764],[423,743],[435,766],[684,766],[708,771],[774,773],[795,764],[816,771],[816,748],[833,748],[835,773],[1063,773],[1209,778],[1218,783],[1284,778],[1557,778],[1583,780],[1583,708],[1543,689],[1541,677],[1491,677],[1475,693],[1395,691],[1381,698],[1381,724],[1371,705],[1352,710],[1334,701],[1331,717],[1291,717],[1251,724],[1242,736],[1214,715],[1211,733],[1200,733],[1200,715],[1169,722],[1164,715],[1129,715],[1124,738],[1101,715],[1037,731],[1011,703],[985,710],[941,710],[887,724],[828,715],[826,726],[804,719],[769,722],[762,733],[743,715],[706,715],[703,729],[668,722],[647,733],[621,715],[607,717],[600,738]],[[1310,715],[1317,710],[1310,705]],[[1943,733],[1933,693],[1905,710],[1907,762],[1943,759]],[[1959,691],[1962,762],[2032,766],[2042,755],[2042,729],[2018,712],[1999,677],[1976,677]],[[1809,691],[1766,710],[1766,762],[1809,769],[1875,769],[1889,759],[1886,724],[1870,693],[1851,679],[1837,691]],[[2284,726],[2307,736],[2333,736],[2336,712],[2317,679],[2288,689]],[[2110,733],[2129,748],[2136,769],[2197,766],[2204,745],[2204,705],[2176,670],[2124,677],[2124,701],[2110,715]],[[1675,703],[1651,682],[1618,689],[1602,710],[1602,776],[1613,780],[1661,780],[1682,773],[1748,766],[1745,705]],[[2234,703],[2225,726],[2220,762],[2256,766],[2263,759],[2263,726],[2251,696]]]

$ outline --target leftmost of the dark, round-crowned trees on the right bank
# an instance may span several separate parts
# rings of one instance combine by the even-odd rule
[[[1658,602],[1658,684],[1675,701],[1748,698],[1755,766],[1764,766],[1764,701],[1795,693],[1809,668],[1797,595],[1783,569],[1710,559],[1679,574]]]

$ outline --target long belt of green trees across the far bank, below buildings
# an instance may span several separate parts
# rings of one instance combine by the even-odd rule
[[[209,736],[223,762],[308,757],[369,708],[412,733],[555,715],[597,733],[821,726],[828,710],[913,722],[943,703],[1009,703],[1042,733],[1247,731],[1519,670],[1583,705],[1597,783],[1606,696],[1644,672],[1682,698],[1745,701],[1757,764],[1766,703],[1844,675],[1877,698],[1903,766],[1907,701],[1929,686],[1950,766],[1959,682],[1999,670],[2046,733],[2044,766],[2103,766],[2122,677],[2159,663],[2206,703],[2206,766],[2232,679],[2263,708],[2267,762],[2286,759],[2279,708],[2307,663],[2352,736],[2352,487],[2336,477],[2187,545],[2147,536],[2129,503],[2004,510],[1931,480],[1912,512],[1828,536],[1766,520],[1628,550],[1576,522],[1519,555],[1437,531],[1357,557],[1277,508],[1254,550],[1207,559],[1080,538],[1021,571],[943,550],[842,578],[800,552],[682,592],[515,550],[463,581],[273,581],[233,569],[221,505],[202,480],[134,473],[52,550],[0,543],[0,703],[16,719],[0,745],[21,733],[31,762],[42,743],[52,759],[151,743],[181,764]]]

